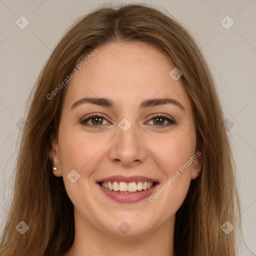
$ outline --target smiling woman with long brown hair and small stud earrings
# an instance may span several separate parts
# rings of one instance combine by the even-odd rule
[[[1,255],[236,255],[233,169],[191,36],[145,5],[99,8],[34,87]]]

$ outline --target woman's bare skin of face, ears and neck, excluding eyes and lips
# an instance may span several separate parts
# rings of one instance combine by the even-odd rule
[[[164,185],[197,151],[189,98],[181,80],[169,75],[174,65],[159,49],[142,42],[115,42],[98,50],[66,85],[59,134],[50,153],[57,167],[53,174],[63,176],[74,205],[75,238],[65,256],[174,255],[175,212],[198,175],[200,157],[154,202],[148,198],[116,202],[95,181],[111,175],[142,175],[158,180],[158,188]],[[85,96],[107,97],[116,107],[86,103],[70,110]],[[174,104],[139,109],[144,99],[166,96],[182,104],[184,111]],[[80,123],[90,113],[104,117],[99,128],[95,119],[87,121],[94,126]],[[152,118],[157,113],[176,123],[161,127],[169,122],[157,124]],[[126,131],[117,125],[123,118],[131,123]],[[74,183],[67,178],[72,169],[80,175]],[[123,221],[131,227],[125,234],[118,228]]]

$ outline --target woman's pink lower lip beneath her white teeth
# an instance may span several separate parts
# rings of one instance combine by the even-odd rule
[[[149,197],[153,193],[155,187],[158,185],[158,184],[155,184],[154,186],[152,186],[149,189],[141,190],[140,192],[136,192],[134,194],[122,194],[122,193],[119,193],[119,192],[116,192],[113,190],[106,189],[106,188],[102,187],[99,183],[97,183],[97,184],[98,184],[99,188],[101,189],[101,191],[105,195],[107,195],[114,201],[122,202],[122,203],[141,201],[141,200]]]

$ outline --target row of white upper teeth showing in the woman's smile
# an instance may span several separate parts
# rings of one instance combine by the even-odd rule
[[[153,186],[153,182],[147,182],[147,181],[138,181],[137,184],[136,182],[129,182],[129,183],[126,183],[126,182],[123,182],[123,181],[120,181],[120,182],[117,182],[117,181],[113,181],[111,183],[111,181],[107,181],[107,182],[101,182],[101,186],[106,188],[106,189],[109,189],[109,190],[114,190],[114,191],[127,191],[127,192],[135,192],[135,191],[141,191],[142,189],[143,190],[146,190],[146,189],[149,189]]]

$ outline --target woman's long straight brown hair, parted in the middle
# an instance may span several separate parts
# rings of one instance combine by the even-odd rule
[[[234,163],[212,75],[188,32],[170,15],[145,4],[101,6],[82,16],[45,63],[30,95],[0,254],[63,255],[71,247],[73,204],[62,177],[52,174],[49,159],[50,138],[57,136],[68,85],[51,99],[47,95],[82,56],[114,41],[142,41],[161,49],[181,70],[180,79],[192,105],[202,168],[176,212],[175,255],[236,255],[234,230],[226,234],[220,229],[225,221],[235,225],[235,209],[238,214],[240,209]],[[22,235],[15,229],[20,221],[29,226]]]

